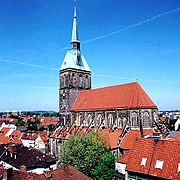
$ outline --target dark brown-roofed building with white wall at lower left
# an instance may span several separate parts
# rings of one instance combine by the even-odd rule
[[[41,174],[49,168],[55,169],[56,159],[35,148],[23,145],[0,145],[0,164],[14,170],[26,169],[27,172]]]

